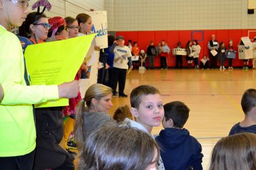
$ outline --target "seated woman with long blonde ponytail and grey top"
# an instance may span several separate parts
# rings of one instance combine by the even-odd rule
[[[111,121],[108,112],[113,106],[111,102],[112,89],[103,84],[93,84],[77,104],[77,117],[74,124],[74,134],[78,148],[94,130]]]

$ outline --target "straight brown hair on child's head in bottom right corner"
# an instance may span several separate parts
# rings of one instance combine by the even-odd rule
[[[256,169],[256,135],[241,133],[220,139],[214,146],[209,170]]]

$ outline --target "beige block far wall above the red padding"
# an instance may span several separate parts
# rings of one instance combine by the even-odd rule
[[[109,31],[255,29],[247,0],[105,0]]]

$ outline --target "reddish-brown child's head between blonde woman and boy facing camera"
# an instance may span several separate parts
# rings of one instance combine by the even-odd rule
[[[113,120],[116,120],[117,123],[122,123],[125,118],[133,120],[133,116],[128,105],[118,107],[113,115]]]

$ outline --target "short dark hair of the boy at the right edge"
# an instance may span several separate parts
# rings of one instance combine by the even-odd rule
[[[241,100],[242,109],[244,114],[247,114],[256,106],[256,89],[247,89],[244,91]]]

